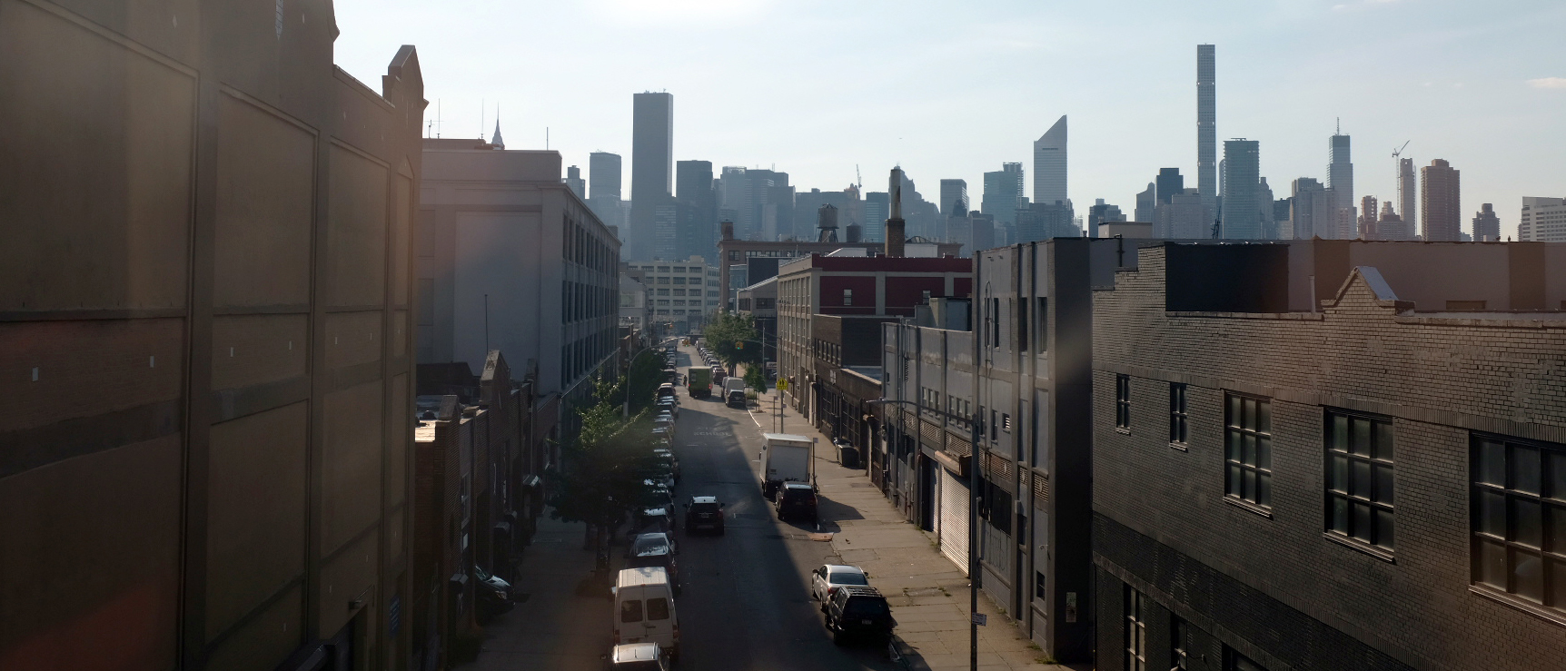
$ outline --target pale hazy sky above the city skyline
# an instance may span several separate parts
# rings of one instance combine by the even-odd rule
[[[1328,136],[1353,136],[1355,199],[1395,197],[1392,150],[1463,172],[1463,228],[1496,203],[1566,196],[1566,2],[813,2],[338,0],[337,63],[377,83],[418,47],[426,117],[445,136],[625,156],[631,94],[675,97],[675,160],[785,170],[885,191],[902,163],[938,180],[1021,161],[1070,116],[1070,194],[1129,216],[1159,167],[1195,186],[1196,44],[1217,45],[1218,139],[1261,141],[1278,197],[1326,181]],[[437,106],[438,102],[438,106]]]

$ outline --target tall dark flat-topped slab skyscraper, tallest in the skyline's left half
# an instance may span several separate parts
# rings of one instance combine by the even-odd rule
[[[662,92],[633,95],[631,116],[631,230],[628,258],[651,252],[653,211],[673,196],[675,97]]]

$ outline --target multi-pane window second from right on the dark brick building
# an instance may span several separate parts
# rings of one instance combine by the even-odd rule
[[[1326,530],[1392,549],[1392,421],[1326,413]]]

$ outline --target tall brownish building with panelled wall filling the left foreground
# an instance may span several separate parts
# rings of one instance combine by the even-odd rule
[[[426,103],[335,36],[0,2],[0,668],[406,668]]]

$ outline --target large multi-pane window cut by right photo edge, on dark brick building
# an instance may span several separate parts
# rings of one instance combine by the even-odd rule
[[[1474,436],[1474,583],[1566,612],[1566,446]]]

